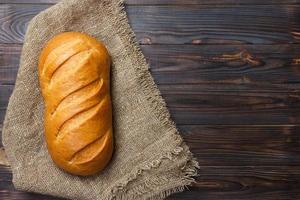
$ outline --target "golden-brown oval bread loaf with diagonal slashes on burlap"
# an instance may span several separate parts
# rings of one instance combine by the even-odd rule
[[[113,152],[110,56],[86,34],[51,39],[39,60],[48,151],[58,167],[74,175],[105,168]]]

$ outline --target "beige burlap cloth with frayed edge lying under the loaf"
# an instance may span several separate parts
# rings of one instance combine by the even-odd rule
[[[38,57],[50,38],[65,31],[103,41],[113,60],[115,151],[108,167],[90,177],[58,169],[44,141]],[[184,190],[197,173],[119,0],[63,0],[31,20],[2,136],[13,183],[25,191],[70,199],[160,199]]]

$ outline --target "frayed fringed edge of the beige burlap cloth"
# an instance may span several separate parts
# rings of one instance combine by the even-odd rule
[[[190,152],[188,146],[182,140],[182,137],[180,136],[175,123],[170,118],[170,114],[166,107],[166,103],[162,98],[161,93],[152,78],[152,75],[150,74],[146,59],[136,40],[136,36],[129,25],[127,14],[124,7],[124,0],[117,0],[114,2],[117,3],[117,7],[119,8],[119,12],[118,12],[119,15],[116,16],[114,20],[119,21],[120,25],[119,27],[116,27],[116,29],[123,36],[122,40],[124,44],[127,44],[125,45],[126,51],[132,52],[132,55],[136,56],[136,61],[139,66],[137,67],[137,77],[138,80],[140,80],[140,85],[143,88],[144,94],[147,97],[147,100],[149,101],[150,105],[154,108],[153,110],[156,111],[155,114],[158,117],[158,119],[165,126],[168,127],[168,130],[172,130],[172,132],[174,132],[173,136],[179,142],[177,144],[177,147],[173,151],[164,153],[156,160],[153,160],[152,162],[146,163],[144,166],[135,169],[134,172],[129,175],[128,179],[123,180],[119,184],[115,185],[115,187],[113,187],[111,191],[112,199],[117,199],[117,200],[128,199],[128,196],[126,196],[126,194],[117,196],[118,191],[124,190],[131,181],[137,179],[139,175],[143,174],[143,172],[151,170],[152,168],[159,167],[161,162],[164,159],[169,159],[172,161],[176,155],[185,153],[187,154],[187,157],[186,157],[186,164],[181,169],[182,173],[184,174],[184,176],[181,178],[181,183],[177,185],[172,185],[170,188],[160,191],[157,194],[152,193],[151,195],[145,197],[145,199],[151,199],[151,200],[164,199],[173,193],[184,191],[185,189],[187,189],[187,186],[190,186],[192,183],[195,183],[195,179],[193,177],[198,175],[197,169],[199,169],[200,167],[197,160]],[[112,9],[112,7],[110,8]],[[148,189],[149,188],[151,188],[151,185],[148,186]],[[147,188],[145,189],[147,190]],[[144,191],[144,192],[150,193],[150,191],[149,192]],[[132,196],[131,198],[135,198],[135,196]]]

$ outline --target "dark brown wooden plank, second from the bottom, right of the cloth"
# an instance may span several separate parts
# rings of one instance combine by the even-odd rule
[[[300,167],[300,126],[178,125],[178,129],[201,166]]]

